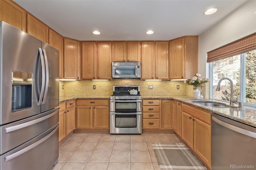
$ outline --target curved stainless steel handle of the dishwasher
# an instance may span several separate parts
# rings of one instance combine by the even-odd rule
[[[230,130],[234,130],[238,133],[242,133],[246,136],[251,136],[252,138],[256,138],[256,133],[251,132],[249,130],[245,130],[243,128],[239,128],[239,127],[235,127],[233,125],[230,125],[228,123],[225,123],[223,121],[220,121],[219,119],[217,119],[216,117],[212,117],[212,120],[220,125],[222,125],[223,127],[229,128]]]

